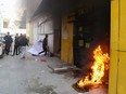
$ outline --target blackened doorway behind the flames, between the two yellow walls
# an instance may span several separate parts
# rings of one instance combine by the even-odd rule
[[[81,14],[79,12],[76,13],[73,39],[74,65],[77,67],[84,68],[84,66],[90,65],[93,61],[93,50],[98,45],[101,45],[104,52],[110,53],[109,0],[90,5]]]

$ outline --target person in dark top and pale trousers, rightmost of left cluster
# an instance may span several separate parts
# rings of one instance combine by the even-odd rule
[[[21,58],[25,58],[26,45],[28,45],[28,40],[26,38],[26,35],[23,35],[22,38],[21,38],[21,40],[20,40]]]

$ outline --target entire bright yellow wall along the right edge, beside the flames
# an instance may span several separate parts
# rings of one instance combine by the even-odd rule
[[[109,94],[126,94],[126,0],[111,1]]]

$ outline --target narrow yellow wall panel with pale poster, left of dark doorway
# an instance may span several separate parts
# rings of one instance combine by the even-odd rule
[[[62,19],[61,59],[73,64],[73,23],[67,23],[67,16]]]

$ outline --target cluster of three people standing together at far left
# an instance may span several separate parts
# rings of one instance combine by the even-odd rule
[[[21,33],[20,36],[18,33],[16,33],[13,40],[10,32],[8,32],[3,39],[5,43],[7,55],[9,55],[12,42],[14,42],[14,49],[12,51],[13,52],[12,56],[14,56],[15,54],[18,55],[21,53],[21,58],[25,58],[26,45],[28,45],[28,39],[26,38],[25,33],[24,35]]]

